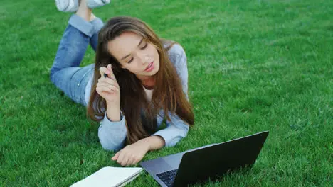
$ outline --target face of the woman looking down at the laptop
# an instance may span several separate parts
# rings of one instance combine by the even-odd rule
[[[149,79],[159,71],[159,53],[156,47],[136,33],[122,33],[107,43],[107,49],[122,68],[141,80]]]

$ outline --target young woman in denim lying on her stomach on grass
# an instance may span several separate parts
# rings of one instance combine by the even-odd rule
[[[104,25],[88,1],[97,0],[70,9],[76,13],[60,41],[51,81],[100,122],[102,147],[118,151],[113,160],[137,164],[149,150],[176,145],[194,124],[186,55],[137,18],[115,17]],[[79,67],[89,44],[95,64]],[[166,128],[158,130],[164,119]]]

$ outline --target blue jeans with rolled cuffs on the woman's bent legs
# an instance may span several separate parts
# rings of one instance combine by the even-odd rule
[[[103,25],[100,18],[88,22],[73,14],[63,33],[63,38],[60,40],[51,68],[50,78],[53,84],[73,101],[84,106],[88,104],[90,89],[86,89],[86,86],[93,78],[95,64],[79,66],[89,44],[96,51],[98,32]],[[88,91],[89,93],[87,93]]]

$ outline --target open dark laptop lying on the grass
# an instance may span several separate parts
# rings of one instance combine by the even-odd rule
[[[187,186],[252,166],[268,131],[141,162],[161,186]]]

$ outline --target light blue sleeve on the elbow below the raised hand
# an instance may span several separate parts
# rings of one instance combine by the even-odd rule
[[[100,144],[104,149],[114,152],[122,149],[127,137],[125,116],[121,113],[121,120],[112,122],[107,118],[105,113],[104,119],[98,128],[98,137],[100,139]]]

